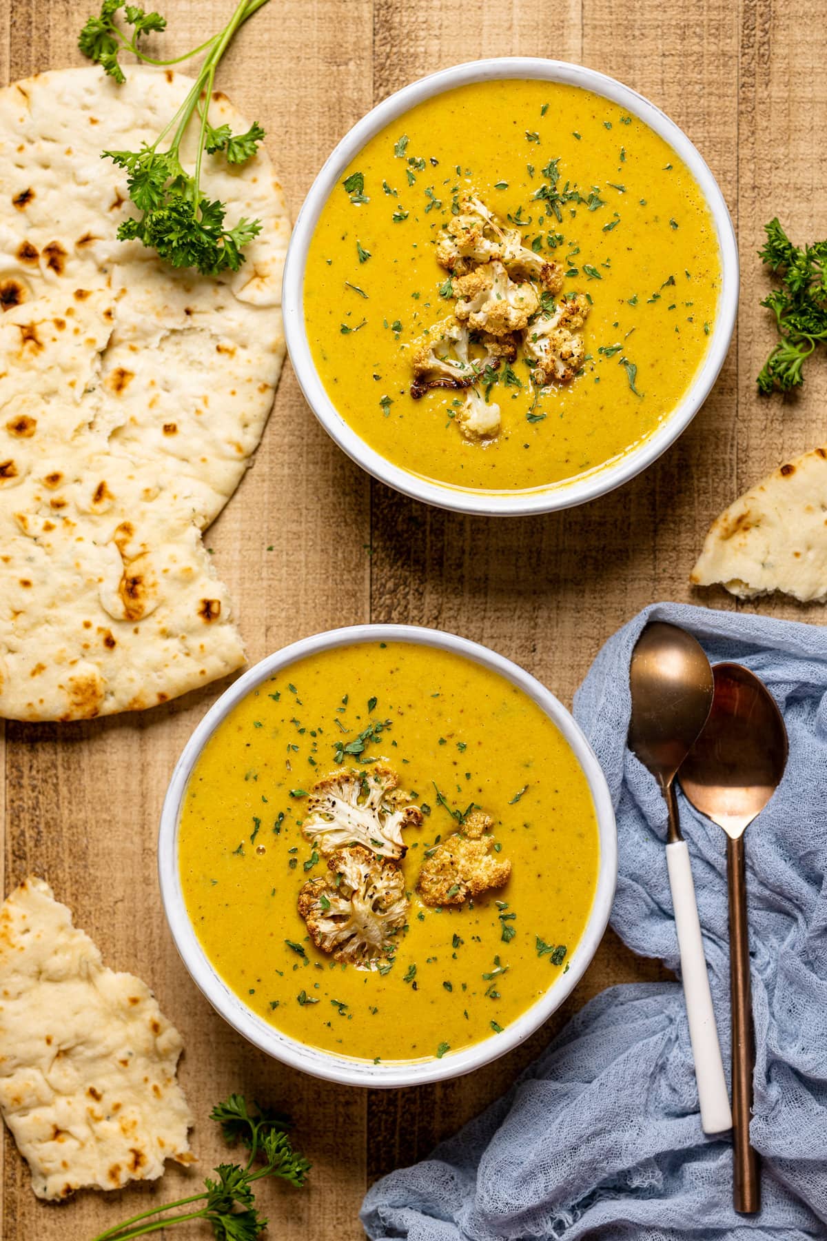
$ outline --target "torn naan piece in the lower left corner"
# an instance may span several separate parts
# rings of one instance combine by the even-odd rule
[[[0,908],[0,1109],[38,1198],[155,1180],[192,1163],[181,1036],[115,974],[42,879]]]

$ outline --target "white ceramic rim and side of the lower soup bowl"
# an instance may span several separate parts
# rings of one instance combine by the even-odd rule
[[[358,642],[409,642],[434,647],[439,650],[453,650],[495,673],[500,673],[506,680],[520,686],[554,721],[572,746],[589,782],[598,818],[600,840],[598,884],[585,930],[569,958],[569,969],[559,974],[546,994],[517,1021],[506,1026],[502,1034],[485,1039],[472,1047],[443,1056],[441,1060],[419,1060],[409,1064],[396,1061],[374,1065],[372,1061],[355,1060],[332,1051],[306,1046],[268,1025],[229,989],[210,963],[190,922],[181,891],[177,859],[181,804],[192,768],[216,727],[237,702],[241,702],[252,689],[274,673],[306,655],[315,655],[334,647]],[[440,1081],[444,1077],[459,1077],[460,1073],[467,1073],[490,1060],[496,1060],[497,1056],[516,1047],[529,1034],[533,1034],[574,989],[594,957],[609,921],[617,877],[617,835],[609,788],[589,742],[565,707],[538,680],[486,647],[467,642],[465,638],[455,638],[449,633],[441,633],[439,629],[420,629],[415,625],[365,624],[348,629],[331,629],[327,633],[295,642],[291,647],[285,647],[284,650],[268,655],[260,664],[255,664],[221,695],[190,737],[172,773],[161,813],[157,865],[164,910],[184,963],[213,1008],[239,1034],[243,1034],[262,1051],[275,1056],[276,1060],[283,1060],[294,1069],[301,1069],[329,1081],[342,1082],[347,1086],[418,1086],[424,1082]]]

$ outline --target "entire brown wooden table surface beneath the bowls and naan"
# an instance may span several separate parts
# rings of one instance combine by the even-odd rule
[[[1,0],[0,81],[81,63],[77,34],[92,7],[92,0]],[[164,0],[161,9],[171,56],[219,29],[232,0]],[[687,575],[709,521],[786,455],[827,438],[823,364],[811,365],[800,398],[761,400],[754,382],[772,335],[758,307],[766,288],[755,257],[763,225],[777,213],[798,240],[827,233],[826,42],[818,0],[273,0],[255,16],[218,84],[265,127],[294,215],[338,138],[398,87],[479,56],[558,57],[629,83],[687,132],[729,204],[743,285],[724,370],[679,442],[613,495],[544,517],[451,516],[371,482],[327,439],[286,365],[254,465],[206,536],[250,660],[334,625],[412,622],[487,643],[570,704],[622,622],[653,599],[693,598]],[[697,602],[735,606],[723,592]],[[817,608],[777,602],[760,611],[823,619]],[[0,733],[5,887],[27,872],[45,875],[105,961],[155,989],[186,1045],[181,1081],[196,1116],[198,1175],[219,1149],[206,1119],[214,1101],[243,1090],[281,1104],[314,1170],[303,1193],[260,1191],[270,1234],[355,1241],[372,1179],[425,1155],[500,1095],[586,999],[665,972],[609,932],[573,997],[527,1045],[441,1086],[347,1090],[269,1061],[196,990],[156,882],[167,778],[222,688],[145,715],[7,724],[5,740]],[[1,1184],[6,1241],[88,1241],[153,1193],[179,1196],[187,1175],[171,1169],[155,1190],[45,1206],[6,1134]]]

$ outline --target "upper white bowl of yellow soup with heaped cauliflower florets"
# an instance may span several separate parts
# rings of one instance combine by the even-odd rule
[[[310,407],[445,509],[570,508],[650,465],[733,334],[723,195],[655,104],[578,65],[460,65],[391,96],[301,207],[285,334]]]

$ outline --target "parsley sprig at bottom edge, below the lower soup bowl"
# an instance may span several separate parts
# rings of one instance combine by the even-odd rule
[[[201,1194],[133,1215],[99,1232],[93,1241],[133,1241],[186,1220],[206,1220],[218,1241],[255,1241],[267,1227],[267,1220],[255,1210],[254,1181],[278,1176],[301,1189],[310,1164],[290,1144],[285,1132],[290,1127],[288,1117],[258,1104],[250,1109],[243,1095],[231,1095],[226,1102],[217,1103],[210,1118],[221,1124],[228,1145],[247,1147],[247,1163],[219,1164],[214,1179],[205,1179]],[[258,1167],[257,1159],[260,1160]],[[170,1215],[170,1211],[180,1214]]]

